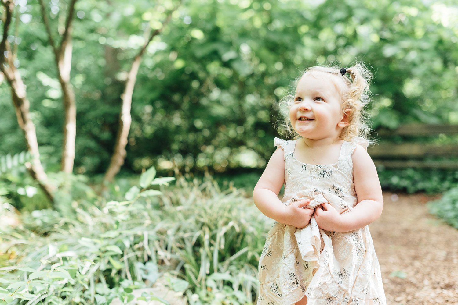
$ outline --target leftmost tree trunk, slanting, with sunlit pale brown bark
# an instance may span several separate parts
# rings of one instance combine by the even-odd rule
[[[3,22],[3,38],[0,43],[0,53],[2,54],[0,57],[0,70],[5,75],[11,87],[11,96],[16,110],[17,123],[24,132],[27,150],[32,156],[32,160],[26,163],[27,169],[49,200],[54,203],[53,193],[55,188],[48,183],[48,177],[41,165],[37,134],[35,132],[35,125],[30,118],[30,102],[27,99],[26,87],[22,82],[21,75],[19,75],[13,64],[14,56],[11,53],[11,48],[7,40],[14,3],[11,0],[2,0],[2,4],[5,6],[6,18]]]

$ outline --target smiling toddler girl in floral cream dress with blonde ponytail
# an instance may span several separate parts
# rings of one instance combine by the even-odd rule
[[[296,140],[275,138],[253,194],[276,220],[259,261],[258,305],[386,304],[367,227],[383,207],[366,152],[370,76],[360,64],[312,67],[283,100]]]

